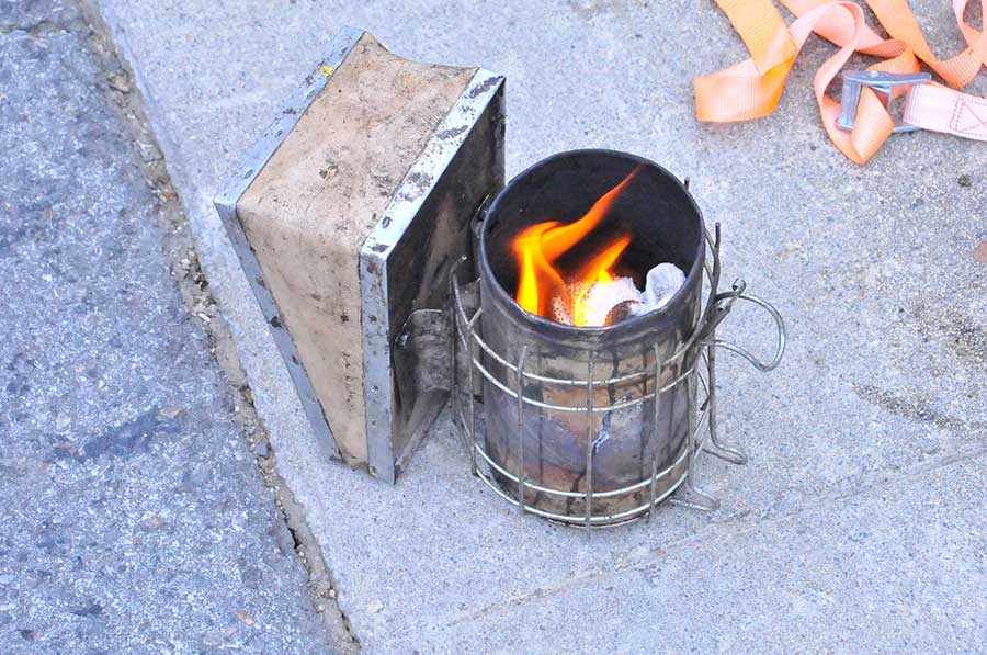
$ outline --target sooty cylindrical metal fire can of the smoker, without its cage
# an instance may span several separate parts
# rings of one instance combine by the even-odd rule
[[[674,257],[689,262],[682,289],[660,312],[610,327],[572,327],[524,312],[491,267],[491,242],[496,240],[491,233],[513,231],[526,227],[529,222],[541,221],[542,212],[551,207],[537,206],[531,197],[540,185],[569,187],[564,194],[583,199],[588,208],[599,197],[599,191],[586,190],[578,179],[567,185],[565,174],[583,168],[586,178],[611,174],[619,181],[636,166],[647,168],[625,193],[644,189],[639,193],[663,195],[667,203],[676,194],[669,214],[690,223],[688,230],[682,230],[690,233],[690,238],[683,239],[688,241],[683,246],[687,252]],[[554,171],[546,170],[549,168]],[[544,178],[541,183],[529,183],[538,176]],[[653,177],[665,184],[650,185]],[[557,206],[559,202],[552,197],[542,204]],[[659,212],[659,207],[660,203],[655,202],[648,211]],[[517,217],[504,215],[512,213]],[[579,215],[575,214],[574,219]],[[523,223],[503,225],[512,218]],[[638,223],[644,221],[643,216]],[[656,230],[660,230],[658,225]],[[499,385],[484,387],[487,453],[511,472],[520,471],[523,460],[524,478],[533,484],[569,492],[592,489],[594,516],[620,513],[642,505],[648,489],[605,494],[647,479],[653,464],[661,470],[671,467],[657,484],[658,494],[677,486],[685,473],[688,462],[683,453],[690,420],[696,414],[689,379],[700,347],[692,347],[680,357],[672,355],[696,330],[706,250],[702,216],[681,182],[668,171],[628,155],[593,150],[556,155],[508,184],[490,206],[481,237],[481,334],[487,345],[514,364],[518,372],[514,374],[492,358],[486,358],[486,365],[515,393],[520,385],[522,396],[530,400],[519,403],[515,395]],[[655,394],[656,386],[668,388]],[[519,493],[514,490],[515,483],[496,472],[495,475],[512,494]],[[564,515],[585,511],[571,496],[558,497],[532,488],[525,495],[526,504],[540,509]]]

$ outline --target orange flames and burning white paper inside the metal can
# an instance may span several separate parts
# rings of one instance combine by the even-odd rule
[[[511,249],[519,269],[514,300],[525,312],[565,325],[601,327],[659,309],[679,290],[685,275],[670,263],[648,272],[644,292],[632,275],[620,273],[621,255],[631,244],[628,234],[616,234],[575,266],[566,268],[559,263],[563,256],[600,226],[638,171],[640,167],[603,194],[578,221],[537,223],[514,238]]]

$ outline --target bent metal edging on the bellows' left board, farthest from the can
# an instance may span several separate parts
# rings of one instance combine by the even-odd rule
[[[237,215],[237,203],[363,34],[363,30],[344,26],[332,37],[329,48],[319,65],[305,78],[302,86],[288,97],[277,117],[268,126],[242,159],[236,169],[237,172],[229,179],[223,193],[214,200],[216,211],[226,226],[226,231],[232,242],[237,258],[240,260],[243,273],[247,275],[250,289],[253,291],[254,297],[257,297],[264,319],[268,321],[269,330],[277,345],[281,357],[284,359],[288,374],[292,376],[292,382],[295,385],[295,391],[298,393],[305,416],[316,437],[324,444],[328,445],[331,456],[337,459],[340,458],[339,445],[332,436],[332,429],[322,411],[322,406],[316,395],[311,380],[309,380],[308,373],[305,371],[295,343],[284,327],[284,320],[281,318],[277,303],[264,282],[257,255],[247,240],[243,226],[240,224]]]

